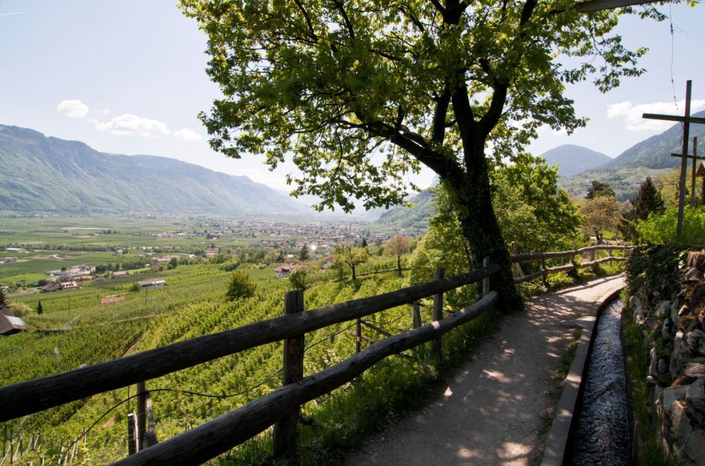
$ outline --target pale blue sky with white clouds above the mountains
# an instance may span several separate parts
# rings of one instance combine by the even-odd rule
[[[271,173],[261,157],[228,159],[213,152],[197,119],[219,90],[205,73],[207,38],[176,0],[0,0],[0,123],[80,140],[101,152],[173,157],[279,190],[285,165]],[[572,135],[546,128],[529,149],[583,145],[616,157],[670,123],[642,113],[680,113],[685,81],[693,111],[705,109],[705,6],[661,6],[673,20],[624,18],[627,47],[648,47],[646,73],[601,94],[591,83],[569,87],[579,116]],[[673,76],[674,85],[671,83]],[[674,104],[679,101],[678,111]],[[424,171],[415,181],[427,186]]]

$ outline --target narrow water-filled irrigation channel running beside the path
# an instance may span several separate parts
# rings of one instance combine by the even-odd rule
[[[572,465],[632,464],[622,309],[622,300],[614,300],[599,317],[572,440]]]

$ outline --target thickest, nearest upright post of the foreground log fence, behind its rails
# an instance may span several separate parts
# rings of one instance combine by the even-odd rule
[[[304,290],[289,291],[284,296],[284,314],[297,314],[304,310]],[[282,383],[284,385],[298,383],[304,376],[304,336],[296,336],[284,340],[284,363]],[[296,423],[299,419],[300,407],[286,412],[276,424],[272,434],[272,450],[274,456],[282,456],[294,446]]]

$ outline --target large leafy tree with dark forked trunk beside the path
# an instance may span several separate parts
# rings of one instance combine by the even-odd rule
[[[574,130],[565,83],[606,91],[639,75],[642,50],[609,35],[621,13],[582,14],[556,0],[181,0],[208,37],[223,98],[201,118],[229,157],[291,159],[295,195],[319,208],[403,202],[407,173],[438,174],[474,266],[518,307],[491,204],[489,168],[544,125]],[[644,15],[658,17],[653,8]],[[562,64],[559,58],[563,59]],[[595,59],[597,57],[597,59]]]

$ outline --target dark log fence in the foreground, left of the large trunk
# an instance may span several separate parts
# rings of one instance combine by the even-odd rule
[[[433,352],[441,354],[441,336],[457,326],[483,314],[498,299],[490,291],[489,277],[500,271],[500,266],[484,261],[482,269],[467,274],[443,278],[442,271],[434,281],[410,286],[391,293],[320,307],[307,312],[303,309],[303,290],[287,293],[285,315],[259,321],[237,329],[214,333],[147,350],[118,360],[94,364],[70,372],[20,382],[0,388],[0,422],[16,419],[34,412],[79,400],[97,393],[111,391],[144,382],[180,369],[202,364],[235,352],[255,348],[274,341],[284,341],[282,388],[253,400],[235,410],[216,417],[195,429],[174,436],[167,441],[142,449],[116,465],[192,465],[207,461],[238,446],[274,424],[273,448],[281,455],[293,446],[293,439],[303,403],[314,400],[360,376],[373,364],[390,355],[433,341]],[[482,298],[470,307],[443,317],[443,293],[460,286],[482,281]],[[304,376],[303,348],[305,333],[333,324],[410,305],[422,298],[434,297],[433,318],[421,325],[415,317],[415,329],[388,336],[353,357],[332,367]],[[417,306],[415,306],[417,308]],[[415,312],[415,315],[418,312]],[[418,321],[417,321],[418,320]],[[142,409],[144,412],[144,409]],[[150,419],[150,427],[153,425]],[[144,436],[142,425],[133,421],[133,441]],[[135,435],[137,431],[137,435]],[[139,449],[139,439],[135,450]],[[132,450],[132,448],[130,448]]]

